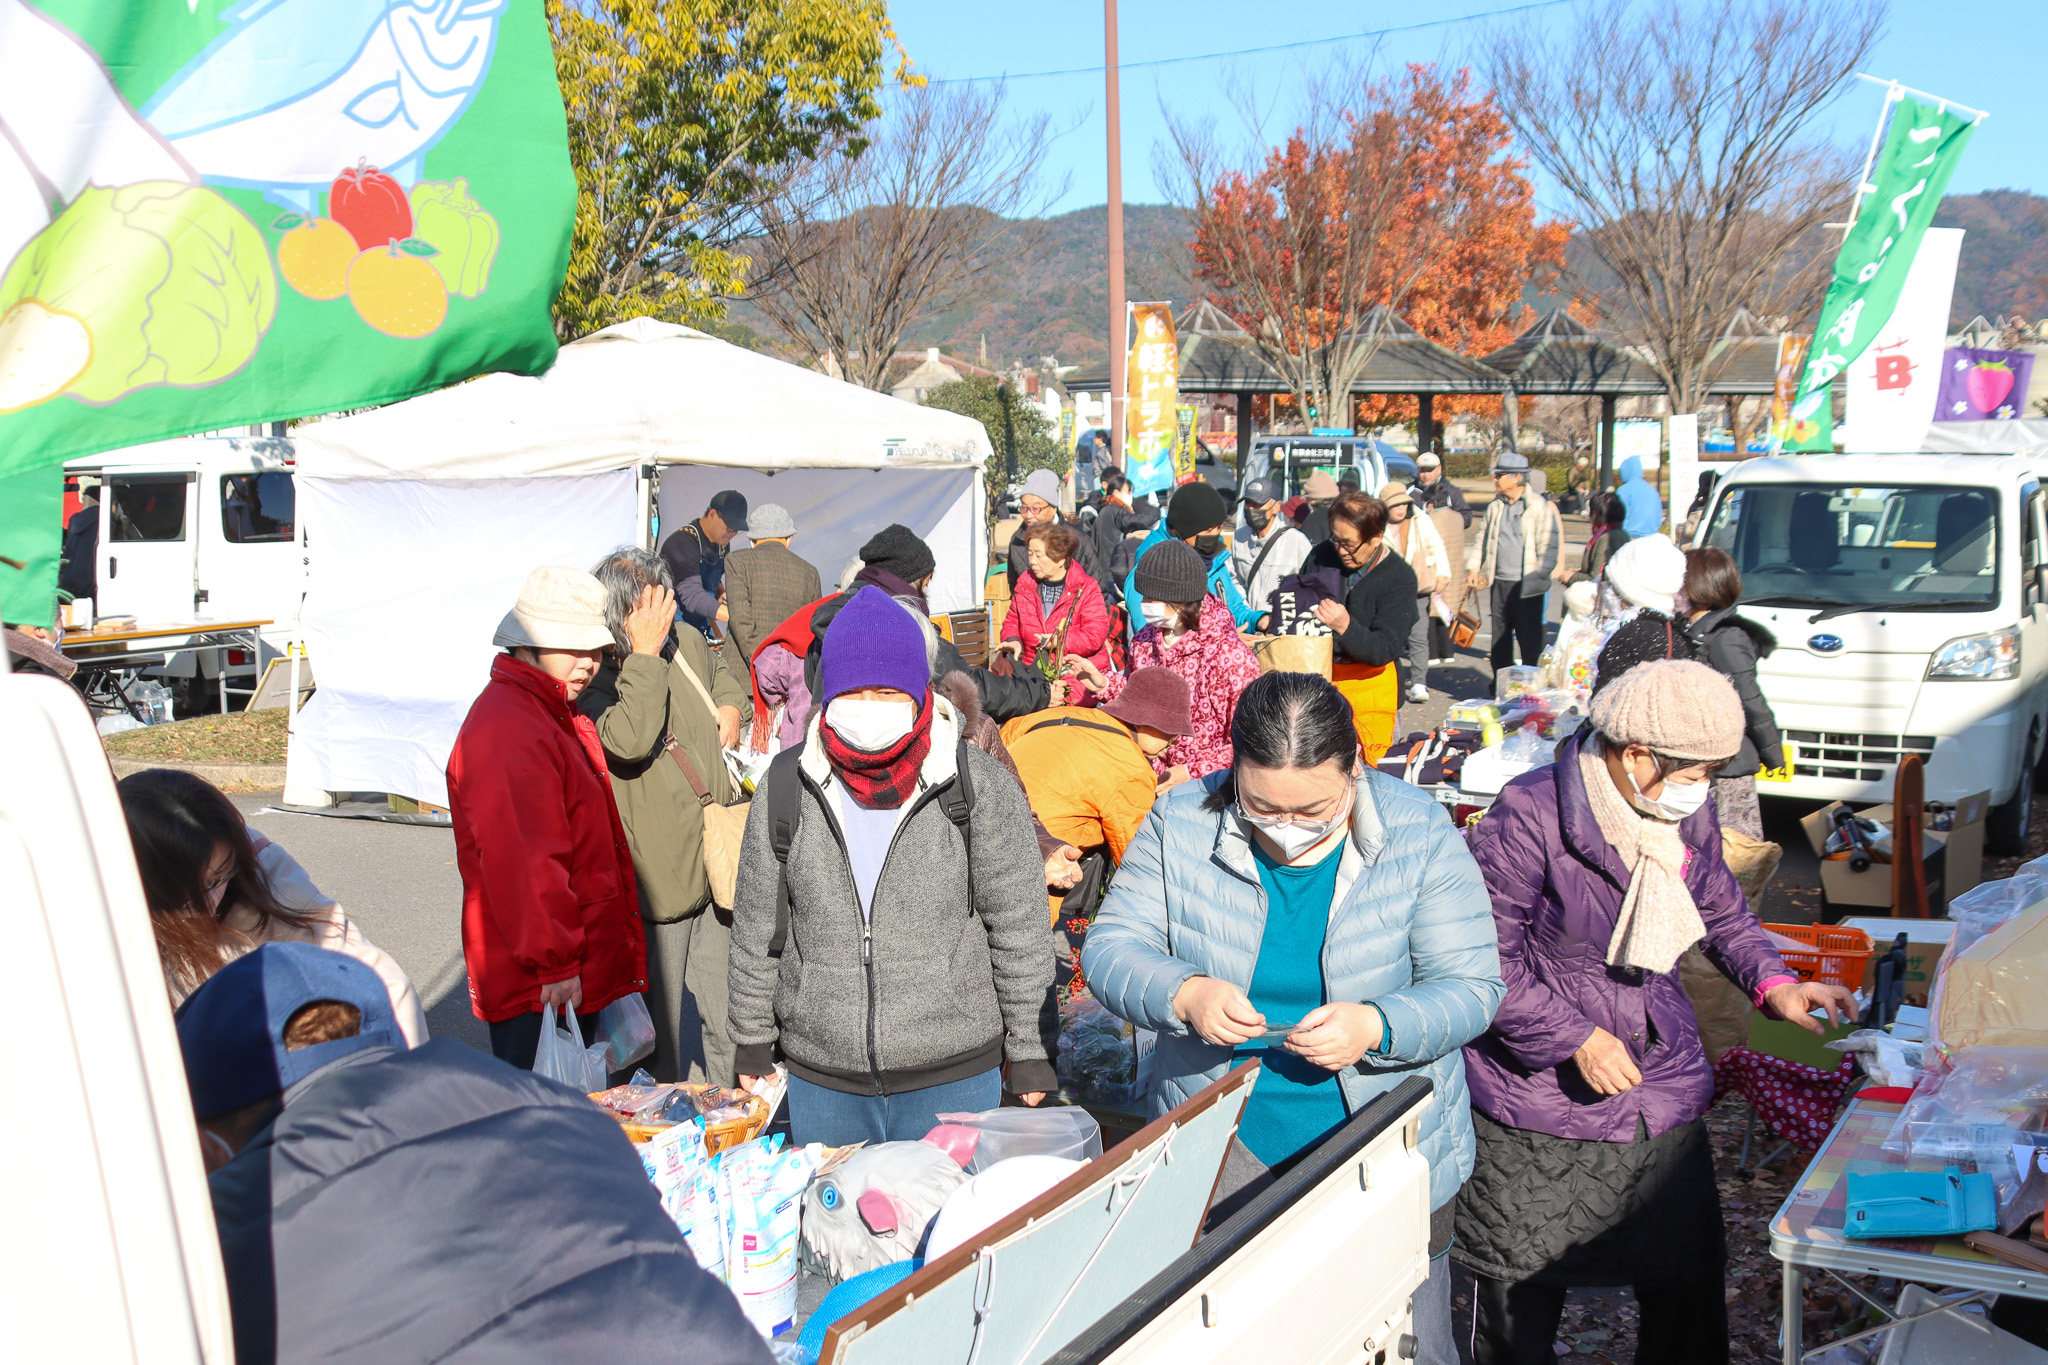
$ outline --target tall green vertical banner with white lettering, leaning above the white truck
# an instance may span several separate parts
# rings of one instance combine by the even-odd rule
[[[1872,166],[1872,188],[1835,254],[1835,278],[1792,399],[1786,448],[1835,448],[1835,377],[1864,354],[1898,307],[1907,270],[1974,127],[1974,119],[1948,106],[1896,100],[1890,133]]]

